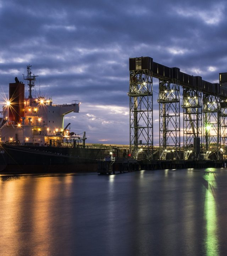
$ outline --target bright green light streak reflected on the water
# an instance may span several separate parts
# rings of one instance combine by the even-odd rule
[[[218,238],[217,238],[217,205],[215,194],[217,184],[215,180],[216,174],[212,168],[205,170],[204,180],[207,182],[204,218],[206,220],[206,237],[205,251],[207,256],[219,255]]]

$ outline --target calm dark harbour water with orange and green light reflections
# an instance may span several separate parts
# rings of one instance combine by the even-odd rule
[[[227,169],[206,171],[0,175],[0,255],[227,255]]]

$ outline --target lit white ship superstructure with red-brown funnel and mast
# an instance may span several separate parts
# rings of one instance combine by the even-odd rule
[[[64,146],[69,140],[78,140],[78,136],[67,129],[68,125],[64,128],[64,116],[70,112],[78,113],[79,101],[55,104],[51,97],[32,97],[35,79],[28,65],[27,76],[24,76],[29,87],[27,97],[24,96],[24,84],[17,78],[15,83],[9,84],[9,100],[3,106],[0,122],[1,142]]]

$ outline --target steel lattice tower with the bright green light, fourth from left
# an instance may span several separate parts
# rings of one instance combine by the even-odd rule
[[[220,98],[203,94],[204,159],[220,160]]]

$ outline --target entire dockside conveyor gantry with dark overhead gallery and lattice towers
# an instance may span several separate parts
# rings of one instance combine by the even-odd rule
[[[153,62],[129,59],[132,157],[154,158],[153,78],[159,79],[159,159],[227,159],[227,74],[220,84]],[[183,100],[180,98],[183,88]],[[180,114],[183,109],[183,149]],[[183,153],[183,155],[182,155]]]

